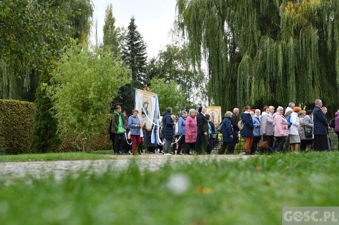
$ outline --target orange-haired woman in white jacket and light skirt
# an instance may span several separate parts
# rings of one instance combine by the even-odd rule
[[[291,113],[290,122],[292,125],[288,128],[289,146],[291,147],[291,153],[299,154],[298,148],[300,144],[299,136],[299,118],[298,113],[301,111],[301,107],[294,107],[293,113]]]

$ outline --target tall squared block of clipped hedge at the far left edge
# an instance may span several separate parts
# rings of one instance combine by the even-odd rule
[[[7,154],[31,152],[34,104],[0,99],[0,150]]]

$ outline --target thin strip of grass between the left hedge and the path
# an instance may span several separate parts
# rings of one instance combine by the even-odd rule
[[[46,154],[0,155],[0,162],[110,159],[107,155],[104,155],[109,153],[112,154],[112,151],[91,151],[91,153],[63,152]]]

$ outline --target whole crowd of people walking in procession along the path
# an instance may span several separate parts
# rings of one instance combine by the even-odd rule
[[[203,106],[198,111],[190,109],[188,113],[182,110],[179,118],[172,115],[171,107],[167,107],[162,114],[161,129],[155,126],[151,131],[142,125],[137,109],[132,113],[127,117],[119,105],[114,110],[109,136],[115,154],[132,151],[133,155],[138,155],[143,152],[143,146],[151,154],[157,150],[164,155],[211,154],[217,142],[222,142],[218,154],[234,154],[240,137],[245,141],[243,154],[257,151],[298,154],[299,150],[308,152],[311,146],[317,151],[330,149],[329,124],[325,117],[327,108],[322,106],[320,99],[315,101],[313,110],[307,111],[293,102],[285,110],[278,106],[276,112],[274,106],[265,106],[261,112],[247,105],[242,109],[240,120],[239,108],[234,108],[233,113],[226,111],[221,124],[212,122]],[[162,144],[151,141],[152,133],[155,136],[157,129]],[[339,110],[335,113],[334,130],[339,136]]]

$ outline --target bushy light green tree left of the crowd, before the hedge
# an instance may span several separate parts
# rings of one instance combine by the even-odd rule
[[[112,97],[129,82],[127,70],[119,60],[112,61],[109,52],[90,49],[88,43],[65,50],[48,91],[60,129],[90,138],[103,130]]]

